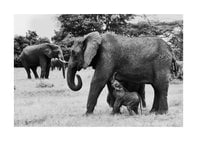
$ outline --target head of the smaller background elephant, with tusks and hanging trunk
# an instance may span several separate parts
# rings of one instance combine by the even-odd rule
[[[42,47],[43,53],[49,57],[49,58],[57,58],[61,63],[62,63],[62,74],[63,77],[65,78],[65,64],[66,62],[64,61],[64,56],[62,49],[60,46],[57,46],[55,44],[51,43],[46,43]]]

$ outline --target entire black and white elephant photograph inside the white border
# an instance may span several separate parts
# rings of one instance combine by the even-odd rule
[[[183,127],[183,14],[15,14],[14,127]]]

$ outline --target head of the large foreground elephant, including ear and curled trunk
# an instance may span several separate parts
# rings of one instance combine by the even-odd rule
[[[101,36],[98,32],[89,33],[74,41],[67,71],[67,83],[73,91],[78,91],[82,87],[82,80],[79,75],[76,75],[78,79],[77,85],[74,82],[76,72],[90,66],[100,44]]]

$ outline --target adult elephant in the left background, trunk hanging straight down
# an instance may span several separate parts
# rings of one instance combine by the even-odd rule
[[[35,78],[39,78],[37,74],[37,67],[41,67],[41,78],[48,78],[50,71],[51,58],[58,58],[62,62],[62,72],[65,78],[64,57],[59,46],[51,43],[44,43],[39,45],[27,46],[23,49],[19,59],[21,60],[28,79],[31,79],[30,69],[33,71]]]

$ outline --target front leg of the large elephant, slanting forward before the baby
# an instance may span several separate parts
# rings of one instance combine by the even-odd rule
[[[102,73],[102,72],[95,71],[95,74],[93,76],[93,79],[90,85],[86,115],[93,113],[94,108],[97,103],[97,99],[102,89],[104,88],[105,84],[108,81],[109,75],[104,75],[104,74],[106,74],[106,72]]]

